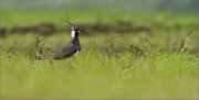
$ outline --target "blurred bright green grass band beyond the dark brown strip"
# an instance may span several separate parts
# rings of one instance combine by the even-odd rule
[[[9,10],[0,10],[0,21],[2,26],[10,25],[32,25],[40,22],[52,22],[62,24],[62,19],[66,18],[66,12],[14,12]],[[199,23],[198,14],[176,14],[170,12],[161,13],[135,13],[135,12],[103,12],[103,11],[76,11],[67,12],[69,18],[74,23],[92,23],[96,21],[105,23],[116,23],[118,21],[128,21],[133,23],[164,26],[172,25],[196,25]],[[195,27],[193,27],[195,29]]]

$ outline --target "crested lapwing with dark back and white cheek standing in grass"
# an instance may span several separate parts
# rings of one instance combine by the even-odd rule
[[[77,25],[72,24],[69,19],[63,20],[64,22],[69,23],[71,25],[71,41],[62,46],[57,47],[51,53],[43,54],[42,56],[38,57],[38,59],[63,59],[72,57],[81,51],[81,44],[78,40],[78,35],[81,34],[81,27]]]

